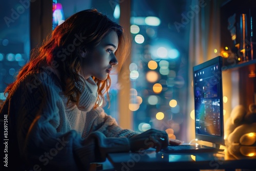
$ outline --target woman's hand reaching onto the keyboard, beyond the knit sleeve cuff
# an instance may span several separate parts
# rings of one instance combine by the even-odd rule
[[[172,141],[172,143],[175,143]],[[144,150],[150,147],[156,147],[156,152],[167,147],[169,138],[165,131],[155,129],[147,130],[141,134],[130,138],[131,151]]]

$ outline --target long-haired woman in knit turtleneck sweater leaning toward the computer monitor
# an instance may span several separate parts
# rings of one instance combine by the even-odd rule
[[[110,152],[166,147],[165,132],[123,130],[99,106],[128,47],[122,27],[97,10],[57,26],[6,88],[1,116],[9,117],[10,162],[27,170],[87,170]]]

